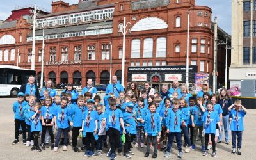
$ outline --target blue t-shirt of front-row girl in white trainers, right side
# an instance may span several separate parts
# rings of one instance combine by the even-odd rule
[[[216,134],[216,124],[217,122],[220,122],[220,116],[216,113],[216,111],[211,111],[209,125],[207,125],[208,115],[209,111],[205,111],[204,116],[202,117],[202,121],[204,122],[205,133]]]

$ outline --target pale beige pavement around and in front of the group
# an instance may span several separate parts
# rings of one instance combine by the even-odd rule
[[[51,148],[46,148],[42,152],[31,151],[30,148],[26,148],[22,144],[22,136],[19,137],[20,143],[17,145],[12,145],[14,140],[14,116],[12,111],[12,104],[15,102],[15,98],[0,98],[0,159],[109,159],[106,157],[106,152],[108,148],[104,148],[104,154],[102,156],[94,157],[84,157],[84,152],[76,153],[72,150],[72,147],[68,146],[67,151],[62,151],[62,148],[59,147],[58,153],[52,152]],[[247,115],[244,117],[244,128],[243,132],[243,143],[242,143],[242,153],[243,155],[239,156],[237,154],[232,155],[232,146],[225,145],[224,143],[217,144],[217,157],[218,159],[256,159],[253,154],[253,150],[256,149],[256,109],[248,109]],[[231,138],[231,136],[230,136]],[[184,138],[182,138],[183,140]],[[231,140],[230,140],[231,142]],[[79,145],[81,145],[81,140],[79,140]],[[182,159],[212,159],[211,153],[208,157],[202,156],[202,152],[199,150],[200,141],[196,142],[196,150],[189,152],[188,154],[184,153]],[[134,155],[131,159],[146,159],[144,157],[146,148],[132,148]],[[152,150],[150,151],[150,158]],[[177,159],[177,147],[173,143],[172,155],[171,157],[164,158],[163,152],[157,152],[157,159]],[[147,159],[148,159],[147,158]],[[116,159],[126,159],[122,154],[117,154]]]

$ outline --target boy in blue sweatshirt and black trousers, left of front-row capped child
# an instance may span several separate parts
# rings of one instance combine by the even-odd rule
[[[70,126],[73,127],[72,129],[72,147],[74,152],[79,152],[77,148],[77,137],[79,136],[79,130],[82,128],[82,116],[84,112],[87,110],[86,106],[84,106],[84,96],[79,95],[77,99],[77,105],[74,105],[70,111]]]

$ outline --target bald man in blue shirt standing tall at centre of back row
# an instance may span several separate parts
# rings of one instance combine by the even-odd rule
[[[114,93],[115,97],[118,97],[120,92],[124,92],[124,87],[120,83],[117,83],[116,76],[112,76],[111,84],[108,84],[106,88],[106,95],[108,93]]]

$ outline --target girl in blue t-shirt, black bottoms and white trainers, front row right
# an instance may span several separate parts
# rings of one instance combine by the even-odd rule
[[[208,154],[208,141],[209,141],[209,136],[211,135],[211,141],[212,141],[212,157],[216,157],[216,141],[215,139],[215,134],[216,134],[216,124],[218,124],[219,130],[221,132],[221,127],[220,127],[220,116],[216,111],[213,109],[213,104],[212,102],[207,102],[207,111],[205,111],[204,116],[202,118],[203,121],[203,126],[205,132],[205,152],[204,156],[207,156]]]

